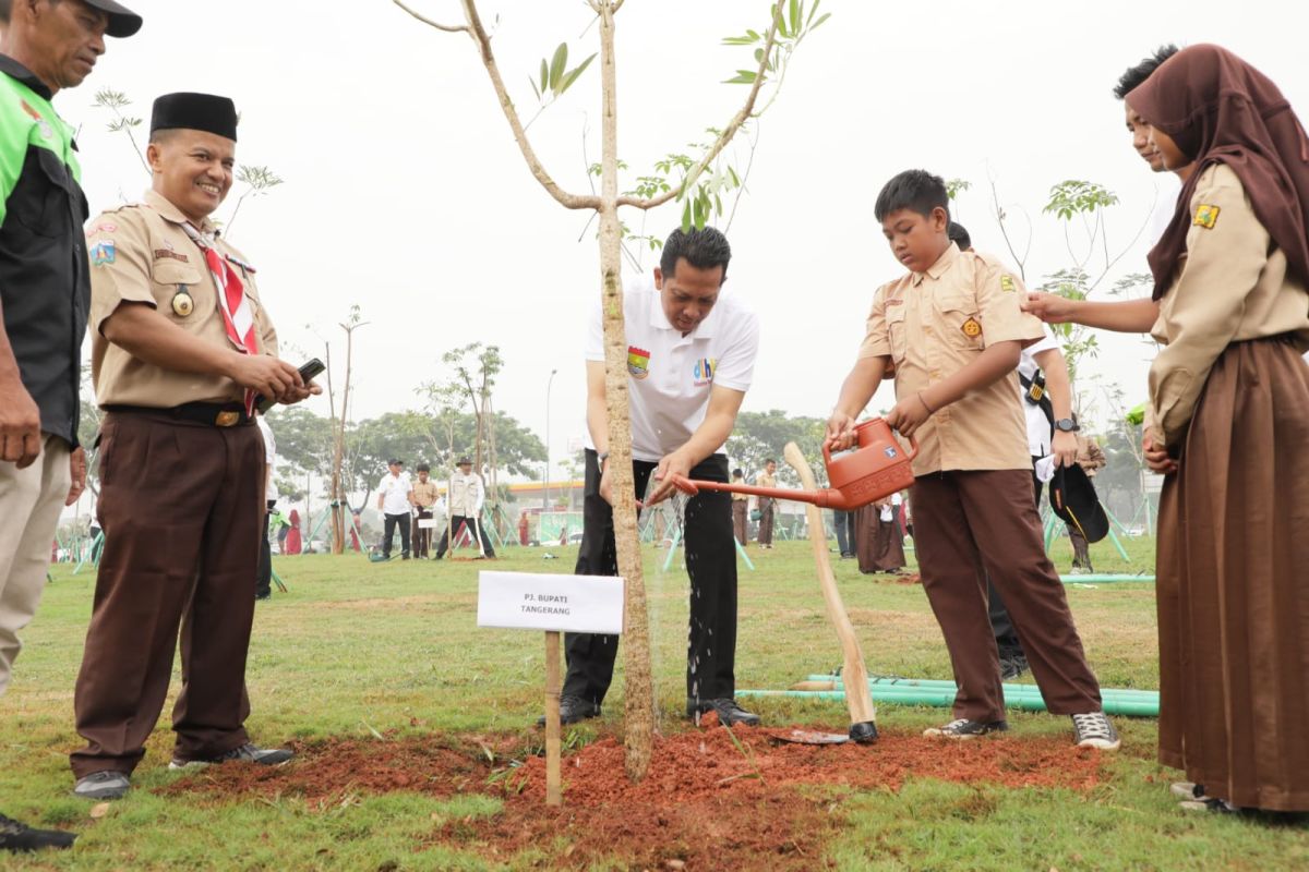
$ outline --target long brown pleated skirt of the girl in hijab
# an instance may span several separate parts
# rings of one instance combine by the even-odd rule
[[[1158,531],[1160,761],[1309,811],[1309,365],[1289,343],[1219,357]]]

